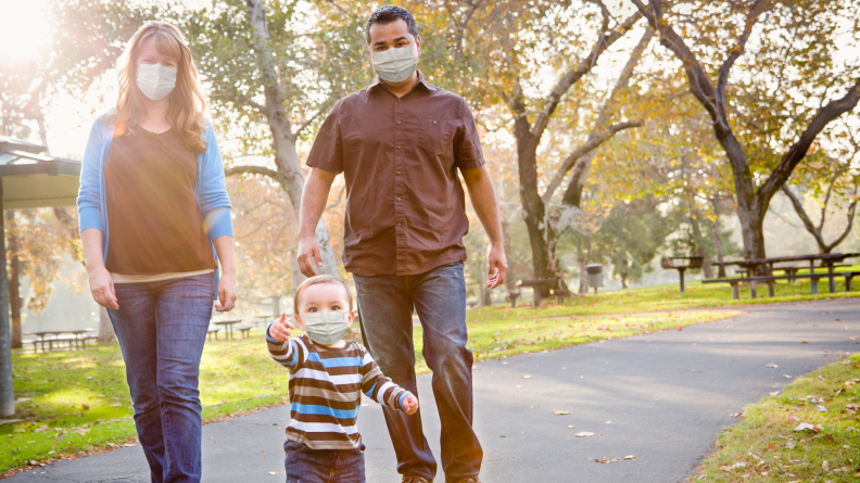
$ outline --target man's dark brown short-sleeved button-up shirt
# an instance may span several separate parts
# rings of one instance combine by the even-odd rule
[[[420,72],[400,99],[377,77],[338,101],[307,157],[311,167],[344,174],[343,265],[365,276],[466,260],[469,220],[457,169],[483,164],[466,101]]]

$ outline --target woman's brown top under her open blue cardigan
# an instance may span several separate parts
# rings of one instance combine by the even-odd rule
[[[104,162],[108,271],[156,275],[217,268],[194,187],[197,155],[176,129],[114,138]]]

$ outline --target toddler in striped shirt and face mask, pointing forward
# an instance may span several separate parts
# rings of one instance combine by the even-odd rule
[[[379,404],[418,410],[413,393],[391,382],[367,349],[343,338],[355,314],[352,293],[339,277],[305,280],[293,298],[295,325],[281,314],[266,329],[271,358],[290,371],[287,483],[365,483],[364,444],[356,420],[362,392]]]

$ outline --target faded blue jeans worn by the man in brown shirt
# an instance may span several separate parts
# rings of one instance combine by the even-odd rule
[[[471,425],[472,354],[466,348],[463,263],[419,275],[354,275],[354,279],[365,346],[382,373],[417,395],[412,321],[415,307],[423,328],[423,356],[433,371],[445,478],[477,478],[483,450]],[[437,462],[423,435],[420,414],[408,416],[389,407],[383,410],[397,455],[397,472],[432,480]]]

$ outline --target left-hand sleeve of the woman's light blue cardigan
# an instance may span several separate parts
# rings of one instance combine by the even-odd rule
[[[104,143],[110,142],[112,136],[113,129],[105,124],[104,116],[92,123],[80,166],[80,188],[77,199],[80,232],[88,228],[96,228],[104,233],[101,208],[101,167]]]

